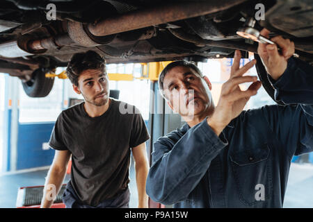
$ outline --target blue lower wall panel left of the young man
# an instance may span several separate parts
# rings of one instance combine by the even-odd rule
[[[54,150],[42,150],[49,142],[54,123],[19,124],[17,140],[17,170],[49,166]]]

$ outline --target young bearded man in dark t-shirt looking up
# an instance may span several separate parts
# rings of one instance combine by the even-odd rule
[[[63,194],[66,207],[129,207],[129,163],[135,160],[138,207],[147,207],[145,180],[149,165],[145,122],[134,106],[109,98],[104,59],[95,51],[75,54],[67,76],[84,102],[64,110],[51,134],[56,150],[41,207],[50,207],[72,155],[71,180]],[[130,106],[130,108],[129,108]],[[132,110],[125,114],[125,108]],[[122,111],[122,112],[121,112]]]

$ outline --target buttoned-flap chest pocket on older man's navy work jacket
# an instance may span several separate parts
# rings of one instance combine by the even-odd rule
[[[264,204],[273,186],[267,144],[230,154],[232,173],[240,200],[245,205]]]

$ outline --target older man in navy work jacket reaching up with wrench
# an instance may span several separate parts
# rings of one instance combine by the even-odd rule
[[[146,187],[152,200],[174,207],[282,207],[291,158],[313,150],[313,105],[305,105],[313,104],[313,68],[291,58],[293,42],[272,40],[282,54],[275,45],[259,44],[258,51],[275,99],[298,105],[243,111],[261,83],[243,76],[255,60],[239,68],[240,51],[216,106],[211,83],[195,65],[172,62],[162,71],[161,92],[187,123],[154,143]],[[246,91],[239,88],[249,82]]]

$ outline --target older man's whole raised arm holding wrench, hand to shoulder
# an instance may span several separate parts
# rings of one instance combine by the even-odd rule
[[[268,33],[266,29],[261,32],[266,37]],[[271,40],[280,46],[280,53],[269,44],[259,44],[258,52],[275,88],[275,100],[287,105],[266,106],[262,115],[291,160],[313,151],[313,67],[291,57],[294,43],[290,40],[281,36]]]

